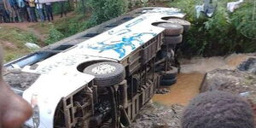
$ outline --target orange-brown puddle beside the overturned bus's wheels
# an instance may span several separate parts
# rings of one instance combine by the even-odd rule
[[[198,95],[204,73],[179,73],[177,83],[168,87],[166,94],[155,94],[153,102],[171,106],[173,104],[186,105]]]

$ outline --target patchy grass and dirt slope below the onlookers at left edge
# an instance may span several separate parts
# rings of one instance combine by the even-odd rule
[[[0,44],[2,44],[4,49],[4,61],[12,61],[32,52],[32,49],[28,49],[25,46],[26,43],[38,44],[40,47],[46,46],[47,44],[44,42],[49,36],[49,29],[74,16],[74,13],[71,12],[62,18],[60,15],[55,15],[55,20],[51,22],[44,21],[35,23],[25,21],[21,23],[1,23]],[[29,41],[32,39],[33,42]]]

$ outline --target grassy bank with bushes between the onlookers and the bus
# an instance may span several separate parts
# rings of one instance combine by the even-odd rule
[[[53,44],[62,38],[67,38],[82,32],[91,26],[110,20],[125,12],[125,0],[90,0],[79,1],[79,8],[73,9],[73,3],[64,3],[67,16],[59,18],[61,4],[54,3],[55,20],[52,22],[36,23],[24,26],[0,26],[0,43],[5,50],[5,61],[12,61],[21,55],[31,52],[25,44],[35,43],[43,47]],[[85,14],[84,14],[84,10]],[[93,12],[93,13],[92,13]],[[19,28],[18,28],[19,27]]]

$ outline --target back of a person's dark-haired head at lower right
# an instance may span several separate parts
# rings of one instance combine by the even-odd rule
[[[241,97],[224,91],[196,96],[183,112],[183,128],[253,128],[253,110]]]

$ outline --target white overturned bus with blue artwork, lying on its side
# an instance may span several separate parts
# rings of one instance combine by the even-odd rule
[[[4,79],[32,104],[26,127],[129,125],[161,80],[173,82],[169,45],[181,42],[183,27],[168,19],[183,16],[179,9],[137,9],[5,64]]]

